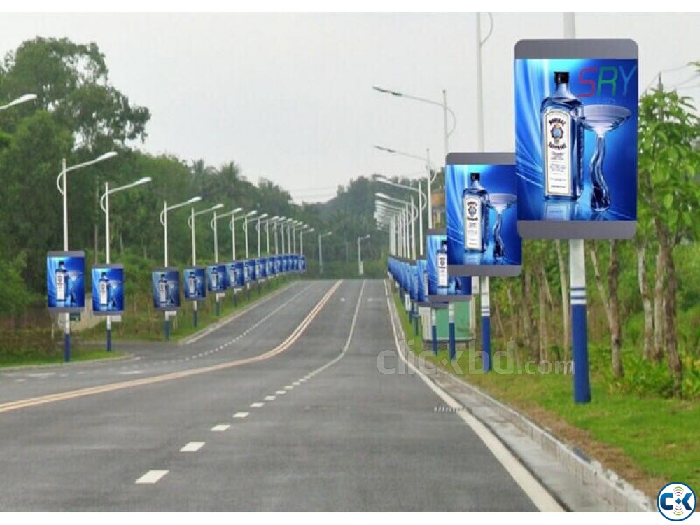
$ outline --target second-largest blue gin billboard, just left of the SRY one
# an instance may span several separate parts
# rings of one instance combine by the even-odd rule
[[[520,273],[517,178],[512,153],[450,153],[445,171],[451,275]]]

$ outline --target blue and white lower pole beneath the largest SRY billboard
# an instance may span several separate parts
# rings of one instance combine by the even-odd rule
[[[582,239],[569,240],[571,288],[571,335],[573,348],[573,400],[591,401],[588,372],[588,335],[586,321],[586,260]]]

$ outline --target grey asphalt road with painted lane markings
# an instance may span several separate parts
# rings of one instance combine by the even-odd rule
[[[0,510],[538,510],[383,351],[405,369],[383,281],[302,281],[190,345],[0,374]]]

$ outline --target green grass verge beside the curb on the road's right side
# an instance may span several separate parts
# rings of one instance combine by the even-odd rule
[[[394,300],[409,346],[421,353],[422,337],[413,339],[414,328],[400,297]],[[667,482],[700,486],[699,400],[621,391],[605,377],[603,361],[591,361],[592,401],[576,405],[570,374],[518,373],[523,369],[517,365],[511,373],[470,372],[469,360],[480,368],[480,358],[470,351],[459,356],[457,370],[449,365],[447,351],[431,354],[428,360],[524,412],[652,498]]]

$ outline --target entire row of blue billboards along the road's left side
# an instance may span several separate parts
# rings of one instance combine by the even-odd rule
[[[270,255],[221,265],[186,267],[182,272],[186,300],[202,300],[209,293],[226,293],[248,283],[279,274],[305,272],[303,255]],[[55,312],[80,312],[85,308],[85,253],[52,251],[46,258],[48,307]],[[180,307],[180,271],[176,267],[153,270],[153,306]],[[95,315],[120,315],[124,311],[123,265],[94,265],[91,270],[92,311]]]

